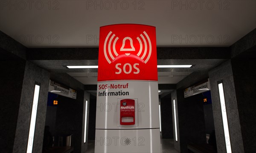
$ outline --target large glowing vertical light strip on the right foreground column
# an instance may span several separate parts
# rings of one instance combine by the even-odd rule
[[[222,122],[223,122],[223,128],[224,128],[226,149],[227,149],[227,153],[232,153],[231,144],[230,144],[229,129],[228,129],[228,123],[227,123],[227,112],[226,112],[226,106],[225,106],[224,90],[223,90],[223,83],[222,82],[218,84],[218,89],[219,89],[220,102],[221,102],[221,114],[222,114]]]

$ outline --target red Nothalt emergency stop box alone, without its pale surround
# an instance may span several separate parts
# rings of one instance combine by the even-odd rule
[[[120,100],[120,125],[135,125],[135,100]]]

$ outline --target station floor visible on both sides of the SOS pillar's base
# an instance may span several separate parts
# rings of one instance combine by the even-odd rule
[[[86,153],[94,153],[94,141],[89,140]],[[161,153],[179,153],[174,149],[173,139],[161,139]]]

